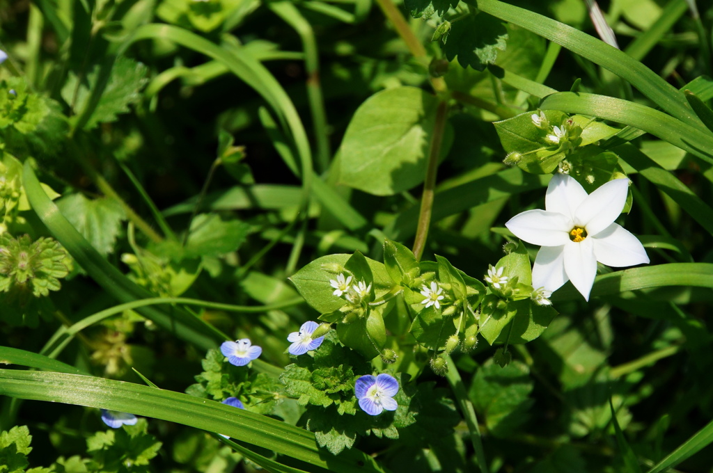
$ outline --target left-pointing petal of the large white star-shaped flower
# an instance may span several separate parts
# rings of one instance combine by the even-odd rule
[[[521,240],[540,246],[561,246],[570,241],[568,232],[573,223],[557,212],[527,210],[515,215],[505,224]],[[492,275],[491,275],[492,276]]]

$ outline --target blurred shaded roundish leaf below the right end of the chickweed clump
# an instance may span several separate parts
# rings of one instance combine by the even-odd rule
[[[501,368],[490,359],[476,372],[468,396],[478,418],[485,418],[488,432],[507,438],[528,421],[528,411],[535,403],[530,399],[532,390],[527,365],[515,360]]]

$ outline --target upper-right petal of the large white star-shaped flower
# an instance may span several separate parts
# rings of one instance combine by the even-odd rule
[[[629,192],[628,179],[609,181],[595,190],[577,207],[575,224],[587,229],[590,237],[607,228],[622,213]]]

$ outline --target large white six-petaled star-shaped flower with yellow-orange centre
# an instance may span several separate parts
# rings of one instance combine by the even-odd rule
[[[628,189],[628,179],[617,179],[587,194],[573,177],[558,174],[547,187],[546,210],[528,210],[506,222],[516,237],[542,246],[533,287],[553,292],[572,281],[589,300],[597,261],[617,268],[649,262],[641,242],[614,223]]]

